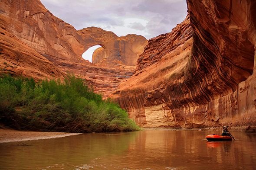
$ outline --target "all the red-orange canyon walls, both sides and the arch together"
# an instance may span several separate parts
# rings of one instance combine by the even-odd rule
[[[0,6],[0,74],[75,74],[141,127],[256,129],[256,1],[187,0],[186,19],[149,40],[76,30],[39,0]]]

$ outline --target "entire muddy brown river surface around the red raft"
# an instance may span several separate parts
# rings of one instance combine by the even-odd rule
[[[256,134],[144,130],[0,144],[0,170],[256,170]]]

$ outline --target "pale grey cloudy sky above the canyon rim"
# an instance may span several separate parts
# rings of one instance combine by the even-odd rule
[[[187,15],[186,0],[41,0],[53,15],[75,29],[90,26],[116,35],[149,39],[171,32]]]

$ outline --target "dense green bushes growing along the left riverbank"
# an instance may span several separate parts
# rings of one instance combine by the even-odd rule
[[[23,130],[124,132],[139,127],[127,112],[93,93],[82,79],[0,78],[0,123]]]

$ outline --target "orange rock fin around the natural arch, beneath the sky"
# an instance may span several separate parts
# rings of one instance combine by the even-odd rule
[[[92,56],[92,63],[98,66],[118,63],[135,66],[138,56],[142,54],[148,40],[141,35],[128,34],[118,37],[113,32],[105,31],[97,27],[81,29],[78,34],[85,42],[87,49],[93,45],[101,45]],[[79,51],[82,55],[84,49]]]

